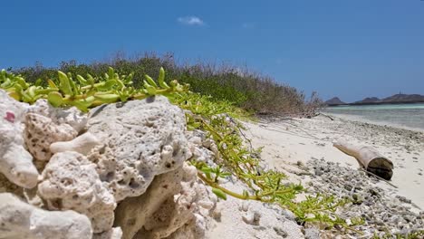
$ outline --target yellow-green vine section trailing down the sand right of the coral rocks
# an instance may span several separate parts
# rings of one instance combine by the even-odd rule
[[[223,101],[215,102],[207,97],[192,93],[178,94],[174,99],[180,108],[189,110],[187,114],[188,129],[200,129],[207,132],[207,137],[214,139],[220,153],[217,167],[192,161],[198,167],[198,177],[214,188],[213,192],[222,199],[226,195],[244,200],[257,200],[264,203],[275,203],[289,209],[296,216],[299,224],[319,222],[323,229],[339,225],[345,230],[355,231],[355,225],[363,224],[361,218],[352,218],[352,225],[346,225],[344,219],[335,214],[339,206],[349,202],[347,199],[334,196],[306,196],[301,202],[294,198],[306,192],[304,186],[284,182],[284,173],[275,170],[264,170],[260,167],[262,148],[254,149],[248,145],[248,139],[241,134],[243,125],[237,119],[249,119],[246,111],[237,110],[232,104]],[[233,175],[249,187],[249,191],[234,192],[220,185],[220,178]],[[358,234],[361,232],[355,231]]]

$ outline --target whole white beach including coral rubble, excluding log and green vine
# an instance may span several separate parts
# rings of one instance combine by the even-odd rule
[[[267,169],[284,171],[290,181],[302,182],[313,192],[334,192],[337,196],[359,194],[368,198],[360,206],[347,206],[341,213],[347,218],[365,218],[365,225],[359,228],[363,234],[343,235],[337,230],[319,232],[313,227],[299,227],[293,218],[290,220],[294,215],[286,210],[229,196],[218,204],[221,207],[220,219],[207,232],[209,238],[281,238],[281,232],[284,232],[284,238],[370,238],[381,231],[395,234],[422,227],[423,132],[340,118],[331,120],[324,116],[263,119],[245,125],[246,138],[252,139],[254,148],[263,147],[261,158]],[[336,139],[372,146],[389,158],[394,164],[390,180],[393,186],[375,177],[367,177],[359,170],[360,165],[355,158],[332,146]],[[325,173],[319,172],[321,169],[314,170],[316,165]],[[331,168],[326,170],[323,167]],[[226,182],[224,186],[236,191],[243,189],[237,181]],[[374,193],[377,196],[373,196]],[[302,195],[300,197],[302,199]],[[260,224],[249,225],[248,218],[254,221],[255,213],[261,215]]]

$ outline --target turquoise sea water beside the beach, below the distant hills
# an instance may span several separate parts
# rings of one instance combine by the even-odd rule
[[[346,119],[424,130],[424,103],[335,106],[323,112]]]

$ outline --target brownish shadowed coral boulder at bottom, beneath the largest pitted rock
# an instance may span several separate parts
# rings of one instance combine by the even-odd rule
[[[142,196],[127,198],[116,209],[115,225],[123,238],[203,238],[207,216],[217,197],[197,179],[196,167],[183,167],[155,177]],[[178,232],[179,230],[179,232]]]

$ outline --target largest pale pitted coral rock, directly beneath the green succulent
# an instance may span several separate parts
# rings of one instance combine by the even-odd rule
[[[88,157],[118,202],[140,196],[153,177],[191,156],[184,112],[165,97],[104,105],[91,115],[88,131],[103,145]]]

